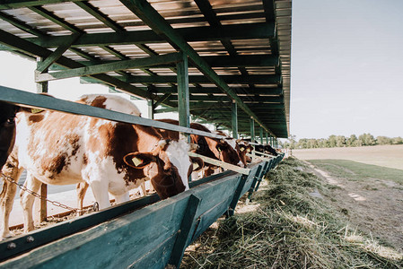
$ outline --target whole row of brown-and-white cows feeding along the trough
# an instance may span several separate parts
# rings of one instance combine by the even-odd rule
[[[131,101],[111,95],[84,95],[79,103],[106,108],[134,116],[140,111]],[[36,113],[34,113],[36,112]],[[200,158],[196,152],[215,160],[240,167],[247,166],[253,147],[244,140],[216,139],[191,134],[190,143],[180,140],[175,131],[149,126],[130,125],[96,117],[57,111],[20,108],[0,102],[0,169],[3,190],[0,195],[2,239],[11,236],[9,217],[13,208],[17,182],[27,170],[24,186],[38,192],[41,183],[77,184],[78,207],[89,186],[100,209],[110,206],[109,194],[117,203],[128,201],[128,191],[144,187],[150,181],[162,198],[188,190],[188,178],[206,177],[219,169]],[[178,121],[160,121],[178,125]],[[210,132],[206,126],[192,123],[191,128]],[[255,150],[277,155],[268,145]],[[32,205],[34,196],[21,191],[24,231],[34,229]]]

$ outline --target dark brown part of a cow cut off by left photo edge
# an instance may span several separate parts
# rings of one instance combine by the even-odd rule
[[[15,139],[14,117],[17,110],[17,106],[0,102],[0,169],[13,150]]]

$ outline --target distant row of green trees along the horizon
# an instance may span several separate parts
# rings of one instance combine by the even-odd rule
[[[295,135],[291,135],[288,141],[279,142],[283,148],[288,149],[313,149],[313,148],[335,148],[335,147],[361,147],[372,146],[377,144],[403,144],[403,138],[377,136],[372,134],[361,134],[358,137],[351,134],[346,137],[344,135],[332,134],[326,138],[302,138],[296,141]]]

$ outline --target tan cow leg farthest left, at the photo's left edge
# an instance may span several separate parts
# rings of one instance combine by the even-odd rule
[[[9,157],[7,162],[5,163],[2,172],[5,176],[13,178],[13,180],[18,182],[18,179],[21,177],[23,169],[18,169],[18,162],[12,157]],[[0,194],[0,239],[10,238],[12,234],[9,229],[9,220],[10,213],[13,209],[14,197],[17,192],[17,186],[8,180],[6,180],[3,176],[3,189]]]

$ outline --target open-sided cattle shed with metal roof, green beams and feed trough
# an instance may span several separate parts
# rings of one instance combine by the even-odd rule
[[[80,77],[147,100],[151,119],[2,85],[0,100],[222,137],[190,129],[193,120],[276,145],[290,134],[291,13],[292,0],[0,0],[0,50],[37,62],[38,92],[48,92],[49,81]],[[165,112],[178,112],[180,126],[153,121]],[[157,204],[157,195],[146,196],[7,239],[0,267],[83,266],[83,252],[88,268],[180,265],[185,247],[231,215],[282,158],[197,180]]]

